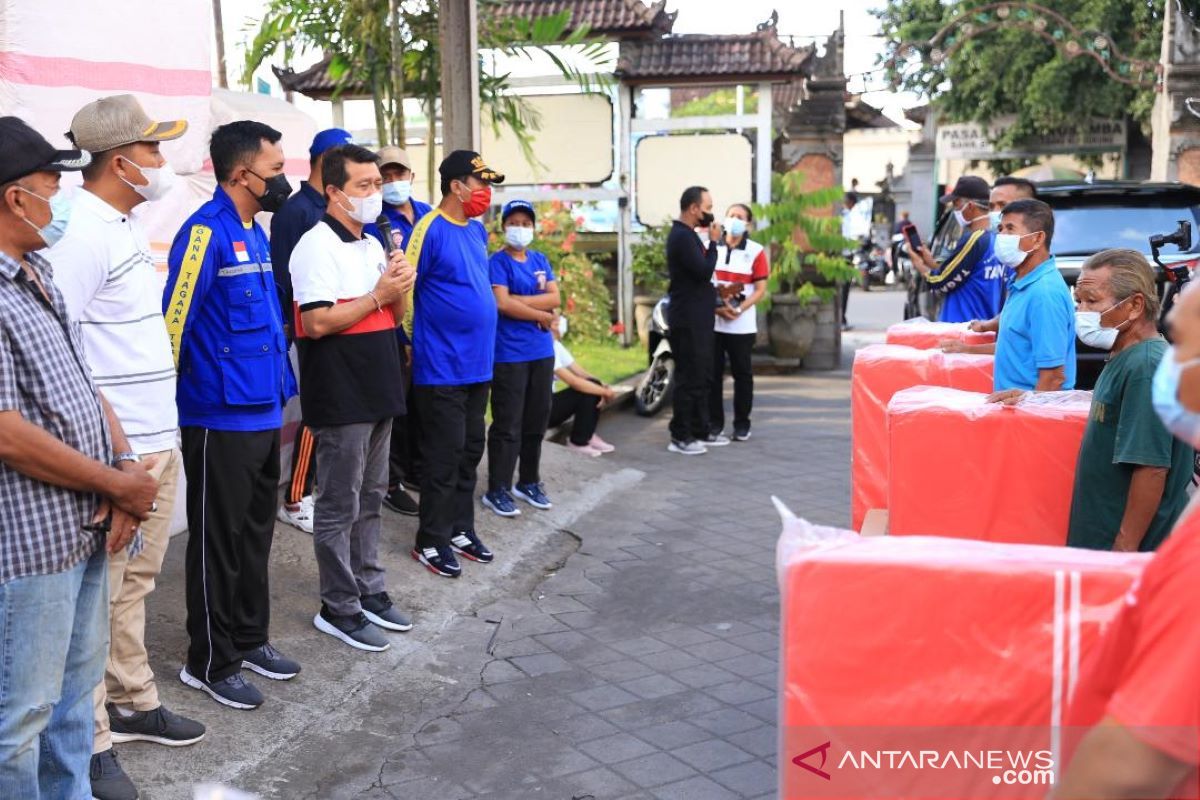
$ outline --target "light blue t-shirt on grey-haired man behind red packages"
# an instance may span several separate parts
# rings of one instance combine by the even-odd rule
[[[1063,389],[1075,387],[1075,303],[1054,257],[1008,285],[996,337],[994,386],[1032,390],[1038,369],[1064,367]]]

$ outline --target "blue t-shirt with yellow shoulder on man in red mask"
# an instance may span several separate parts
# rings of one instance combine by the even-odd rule
[[[413,288],[413,383],[462,386],[492,379],[496,295],[487,273],[487,230],[442,211],[421,217],[406,251]]]

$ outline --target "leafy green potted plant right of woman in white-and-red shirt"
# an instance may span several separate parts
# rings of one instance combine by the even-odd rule
[[[841,235],[841,219],[833,209],[840,187],[804,191],[799,172],[772,178],[773,203],[754,205],[764,224],[755,241],[770,253],[767,326],[770,351],[780,359],[809,355],[823,305],[836,303],[838,287],[857,277],[844,255],[854,242]],[[840,314],[834,324],[840,325]]]

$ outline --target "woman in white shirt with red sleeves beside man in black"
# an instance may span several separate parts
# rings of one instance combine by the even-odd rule
[[[743,203],[734,203],[725,212],[725,239],[716,248],[716,284],[722,303],[716,308],[715,344],[713,347],[713,390],[709,398],[709,421],[713,433],[725,428],[725,402],[721,383],[725,377],[725,356],[733,374],[733,440],[750,438],[750,408],[754,404],[754,371],[750,354],[758,336],[758,320],[754,306],[767,294],[767,251],[750,239],[754,212]]]

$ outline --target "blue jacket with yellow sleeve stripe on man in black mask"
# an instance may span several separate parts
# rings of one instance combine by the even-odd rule
[[[266,234],[222,187],[175,234],[162,309],[180,426],[270,431],[296,393]]]

